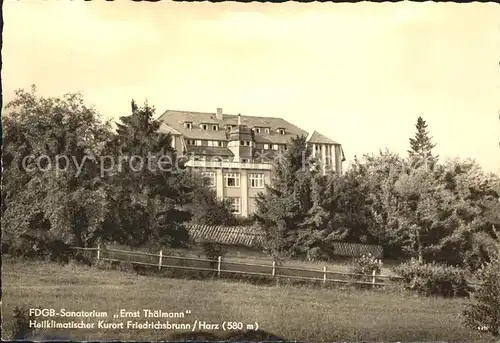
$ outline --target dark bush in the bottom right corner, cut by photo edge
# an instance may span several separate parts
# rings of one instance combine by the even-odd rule
[[[500,259],[482,268],[478,278],[481,286],[463,312],[464,325],[500,337]]]

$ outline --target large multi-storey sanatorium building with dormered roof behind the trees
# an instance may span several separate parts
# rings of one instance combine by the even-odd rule
[[[272,164],[291,138],[304,135],[323,173],[342,173],[341,144],[317,131],[308,133],[282,118],[167,110],[158,120],[160,131],[173,136],[172,147],[188,158],[219,198],[231,202],[234,213],[255,211],[255,197],[270,182]]]

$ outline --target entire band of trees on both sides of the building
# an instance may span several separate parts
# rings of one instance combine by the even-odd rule
[[[241,224],[229,205],[184,169],[155,109],[134,101],[102,120],[78,94],[19,90],[3,116],[4,251],[61,244],[188,244],[185,224]],[[500,181],[474,161],[440,162],[422,118],[407,156],[356,159],[321,175],[305,137],[293,139],[257,198],[253,221],[277,259],[333,255],[331,242],[380,244],[386,257],[478,268],[495,248]]]

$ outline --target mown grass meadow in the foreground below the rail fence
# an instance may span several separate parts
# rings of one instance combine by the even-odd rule
[[[258,323],[286,339],[319,341],[489,342],[462,327],[460,299],[400,292],[305,287],[263,287],[217,280],[179,280],[69,264],[4,260],[2,338],[9,338],[14,306],[107,311],[190,310],[171,323]],[[41,320],[42,318],[37,318]],[[57,320],[61,320],[55,318]],[[124,319],[144,321],[144,318]],[[150,320],[158,320],[156,318]],[[167,319],[159,319],[167,321]],[[97,319],[84,318],[84,321]],[[206,330],[205,330],[206,331]],[[40,332],[43,332],[41,330]],[[75,340],[165,340],[174,332],[133,329],[59,329]],[[493,340],[491,340],[493,341]]]

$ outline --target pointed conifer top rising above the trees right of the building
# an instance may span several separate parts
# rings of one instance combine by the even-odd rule
[[[410,150],[408,155],[413,167],[425,167],[429,170],[434,168],[439,156],[433,156],[432,149],[436,146],[427,131],[427,123],[422,117],[418,117],[415,125],[417,132],[414,138],[410,138]]]

